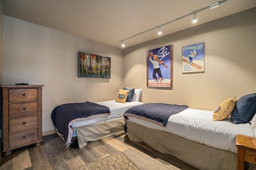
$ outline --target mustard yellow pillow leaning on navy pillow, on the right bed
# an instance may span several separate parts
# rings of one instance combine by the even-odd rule
[[[229,98],[222,102],[220,106],[214,111],[212,120],[213,121],[222,121],[232,113],[236,106],[237,98]]]

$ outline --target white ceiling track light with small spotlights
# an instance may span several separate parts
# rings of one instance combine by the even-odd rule
[[[161,33],[162,33],[162,30],[161,30],[161,27],[162,27],[162,26],[168,25],[168,24],[173,23],[173,22],[176,22],[176,21],[178,21],[178,20],[182,20],[183,18],[187,18],[187,17],[192,16],[192,15],[193,15],[193,21],[194,21],[195,18],[196,18],[196,16],[197,16],[197,14],[198,14],[199,12],[202,12],[202,11],[208,10],[208,9],[217,8],[217,7],[220,6],[221,4],[224,4],[225,2],[228,2],[228,0],[223,0],[223,1],[221,1],[221,2],[215,2],[215,3],[213,3],[213,4],[210,4],[210,6],[207,6],[207,7],[205,7],[205,8],[202,8],[202,9],[200,9],[200,10],[197,10],[197,11],[195,11],[195,12],[192,12],[192,13],[190,13],[190,14],[187,14],[187,15],[182,16],[182,17],[180,17],[180,18],[177,18],[177,19],[175,19],[175,20],[166,22],[166,23],[164,23],[164,24],[162,24],[162,25],[159,25],[159,26],[156,26],[156,27],[154,27],[154,28],[148,29],[148,30],[146,30],[146,31],[144,31],[144,32],[138,33],[138,34],[133,35],[133,36],[131,36],[131,37],[128,37],[128,38],[126,38],[126,39],[122,39],[121,41],[119,41],[119,43],[122,42],[122,47],[124,47],[124,41],[126,41],[126,40],[128,40],[128,39],[131,39],[131,38],[134,38],[134,37],[137,37],[137,36],[142,35],[142,34],[144,34],[144,33],[150,32],[150,31],[152,31],[152,30],[154,30],[154,29],[159,29],[158,34],[161,34]],[[160,32],[161,32],[161,33],[160,33]]]

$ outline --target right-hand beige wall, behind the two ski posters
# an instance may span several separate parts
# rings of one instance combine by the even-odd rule
[[[124,85],[145,103],[215,110],[227,98],[256,92],[256,8],[124,49]],[[135,37],[136,38],[136,37]],[[204,42],[205,72],[182,74],[181,48]],[[173,45],[173,89],[146,86],[146,51]]]

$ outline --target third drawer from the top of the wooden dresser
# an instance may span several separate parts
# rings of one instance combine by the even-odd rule
[[[9,120],[9,133],[38,127],[38,116],[27,116]]]

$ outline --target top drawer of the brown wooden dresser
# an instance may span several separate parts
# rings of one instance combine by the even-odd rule
[[[9,102],[26,102],[38,100],[37,88],[9,89]]]

